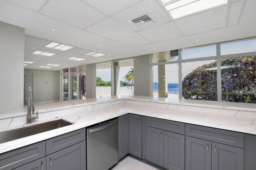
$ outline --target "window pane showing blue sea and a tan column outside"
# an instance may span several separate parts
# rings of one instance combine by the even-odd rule
[[[153,96],[179,98],[178,63],[153,66]]]

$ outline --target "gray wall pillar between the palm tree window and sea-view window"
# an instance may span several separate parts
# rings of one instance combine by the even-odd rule
[[[150,96],[150,55],[134,57],[134,96]]]

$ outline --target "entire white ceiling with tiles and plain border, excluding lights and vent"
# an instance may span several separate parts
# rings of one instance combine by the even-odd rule
[[[164,6],[160,0],[0,0],[0,21],[25,28],[24,61],[34,62],[25,68],[46,70],[256,36],[255,0],[228,0],[175,20]],[[144,15],[153,24],[131,22]],[[44,47],[51,42],[74,48]],[[91,52],[106,55],[85,55]],[[47,64],[60,66],[40,68]]]

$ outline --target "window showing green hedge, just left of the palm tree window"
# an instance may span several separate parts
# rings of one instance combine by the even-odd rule
[[[96,64],[96,98],[111,96],[111,62]]]

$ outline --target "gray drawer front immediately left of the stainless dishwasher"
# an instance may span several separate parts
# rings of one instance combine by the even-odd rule
[[[46,155],[85,140],[85,128],[46,140]]]

